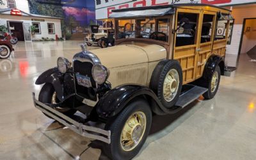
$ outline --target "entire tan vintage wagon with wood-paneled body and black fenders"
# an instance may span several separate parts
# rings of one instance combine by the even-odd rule
[[[200,95],[214,97],[232,17],[225,8],[177,4],[114,10],[111,18],[115,46],[87,51],[82,45],[72,63],[58,58],[58,67],[36,80],[44,86],[33,100],[50,118],[104,141],[111,159],[132,159],[153,114],[177,113]],[[77,111],[86,118],[75,120]]]

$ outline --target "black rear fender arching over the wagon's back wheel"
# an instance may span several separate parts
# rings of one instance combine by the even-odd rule
[[[208,58],[205,64],[204,74],[203,74],[204,79],[211,79],[211,76],[214,73],[214,70],[217,66],[220,66],[221,75],[224,75],[224,70],[225,70],[224,58],[213,54]]]

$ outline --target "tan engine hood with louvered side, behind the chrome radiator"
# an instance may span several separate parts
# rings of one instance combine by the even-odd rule
[[[113,88],[126,83],[149,86],[154,68],[167,55],[161,45],[140,42],[95,49],[92,52],[109,69],[108,81]]]

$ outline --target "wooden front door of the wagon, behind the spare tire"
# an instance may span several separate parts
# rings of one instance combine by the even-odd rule
[[[178,8],[176,13],[173,59],[182,67],[183,84],[195,80],[200,44],[202,11]],[[184,26],[181,24],[184,23]]]

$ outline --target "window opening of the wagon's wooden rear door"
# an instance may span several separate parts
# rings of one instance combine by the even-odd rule
[[[214,15],[204,14],[204,19],[202,24],[202,33],[201,33],[201,44],[211,41],[213,20],[214,20]]]

